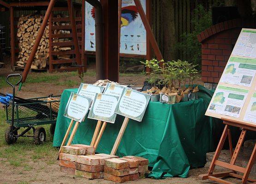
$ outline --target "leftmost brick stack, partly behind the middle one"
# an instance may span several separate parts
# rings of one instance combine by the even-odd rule
[[[62,146],[59,156],[60,171],[75,175],[77,155],[92,155],[95,154],[94,151],[94,147],[83,144]]]

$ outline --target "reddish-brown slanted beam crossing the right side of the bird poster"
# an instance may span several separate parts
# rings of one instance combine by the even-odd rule
[[[145,14],[145,12],[143,10],[141,2],[140,2],[140,0],[134,0],[134,3],[136,5],[136,7],[137,7],[137,10],[138,10],[138,12],[140,14],[141,20],[142,20],[142,22],[144,24],[144,27],[145,27],[146,31],[147,31],[147,35],[149,36],[149,41],[150,41],[150,43],[151,43],[151,45],[153,47],[153,50],[155,52],[155,56],[156,56],[156,58],[158,60],[161,60],[161,59],[163,59],[163,56],[161,54],[159,46],[157,45],[157,42],[155,40],[154,34],[153,34],[152,29],[150,27],[150,24],[149,24],[149,21],[147,19],[147,16],[146,16],[146,14]]]

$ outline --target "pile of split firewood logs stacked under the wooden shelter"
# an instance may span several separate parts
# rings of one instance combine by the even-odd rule
[[[17,37],[19,54],[17,66],[24,67],[30,57],[30,52],[36,42],[36,36],[41,27],[43,16],[39,14],[21,16],[18,20]],[[49,25],[46,26],[40,44],[37,48],[31,69],[43,69],[49,57]]]

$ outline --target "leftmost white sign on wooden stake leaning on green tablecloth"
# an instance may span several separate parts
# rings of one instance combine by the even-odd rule
[[[70,124],[69,127],[65,133],[65,137],[61,143],[61,146],[65,145],[66,139],[71,131],[71,127],[73,125],[73,122],[76,121],[75,126],[71,132],[71,136],[68,140],[67,145],[70,145],[75,133],[77,132],[77,127],[80,122],[82,122],[89,110],[90,104],[92,100],[90,98],[84,97],[82,95],[79,95],[77,93],[71,92],[70,98],[68,100],[68,103],[65,108],[64,116],[67,118],[70,118]],[[60,150],[59,150],[60,155]]]

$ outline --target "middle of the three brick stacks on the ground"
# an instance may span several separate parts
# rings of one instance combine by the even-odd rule
[[[118,156],[107,154],[78,155],[76,157],[75,175],[83,178],[96,179],[104,177],[104,161]]]

